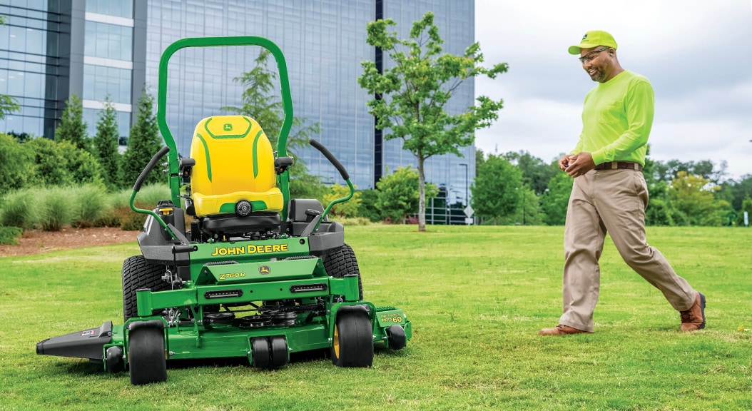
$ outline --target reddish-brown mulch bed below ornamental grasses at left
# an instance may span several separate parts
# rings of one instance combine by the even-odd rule
[[[139,231],[123,231],[119,227],[26,230],[19,239],[19,245],[0,245],[0,257],[132,242],[136,240],[138,233]]]

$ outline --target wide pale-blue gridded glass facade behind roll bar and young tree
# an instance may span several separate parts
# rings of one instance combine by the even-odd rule
[[[414,20],[433,11],[446,43],[444,50],[462,53],[474,41],[474,2],[421,0],[385,1],[384,17],[398,23],[406,35]],[[360,63],[374,59],[374,48],[366,44],[366,24],[374,20],[374,0],[266,0],[149,2],[147,11],[147,82],[157,84],[159,57],[169,44],[185,37],[258,35],[274,41],[284,52],[290,75],[296,117],[320,123],[317,136],[347,167],[359,188],[374,186],[374,120],[365,102],[371,98],[357,78]],[[169,68],[167,122],[181,154],[190,149],[193,128],[203,117],[221,113],[220,107],[241,105],[242,88],[232,81],[253,68],[259,50],[183,49]],[[472,82],[458,90],[450,111],[473,104]],[[263,125],[262,125],[263,126]],[[465,195],[465,169],[475,169],[475,149],[465,148],[465,158],[441,156],[426,163],[426,179]],[[300,157],[312,173],[329,183],[341,182],[331,164],[313,149]],[[414,157],[401,150],[400,142],[384,144],[384,168],[415,164]],[[469,176],[472,181],[472,175]],[[450,199],[451,201],[451,199]]]

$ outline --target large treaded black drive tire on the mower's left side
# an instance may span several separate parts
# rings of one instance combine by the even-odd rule
[[[168,282],[162,280],[165,274],[165,266],[147,263],[143,255],[126,258],[123,261],[123,320],[138,317],[136,305],[136,290],[149,288],[151,291],[167,291],[170,289]],[[152,314],[159,315],[161,310],[155,310]]]

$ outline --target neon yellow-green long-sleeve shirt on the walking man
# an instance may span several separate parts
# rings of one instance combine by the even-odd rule
[[[644,166],[654,105],[653,87],[644,76],[625,70],[599,83],[585,96],[580,140],[570,154],[590,153],[596,164]]]

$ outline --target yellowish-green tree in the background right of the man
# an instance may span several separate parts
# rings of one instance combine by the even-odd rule
[[[687,216],[687,225],[720,225],[717,210],[723,206],[713,196],[717,187],[708,179],[680,171],[671,182],[669,196],[672,206]]]

